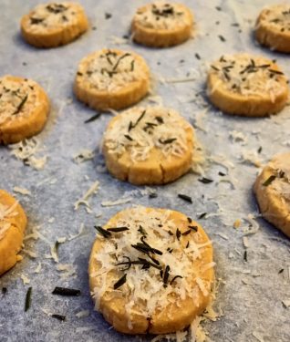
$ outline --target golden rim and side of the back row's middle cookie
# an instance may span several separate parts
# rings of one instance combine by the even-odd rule
[[[171,28],[154,28],[142,25],[138,16],[134,16],[131,23],[131,32],[135,42],[147,47],[173,47],[180,45],[192,36],[193,15],[185,5],[179,5],[184,12],[186,22],[182,26]],[[140,7],[137,11],[142,13],[149,10],[151,4]]]

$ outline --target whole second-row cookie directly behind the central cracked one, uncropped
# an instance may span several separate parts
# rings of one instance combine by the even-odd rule
[[[102,49],[83,58],[75,79],[77,98],[98,110],[124,109],[150,88],[150,71],[134,52]]]

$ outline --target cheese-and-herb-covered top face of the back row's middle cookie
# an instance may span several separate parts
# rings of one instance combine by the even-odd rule
[[[140,7],[134,21],[143,27],[162,30],[174,30],[181,26],[191,26],[192,16],[189,10],[181,4],[170,4],[166,1],[156,1]]]

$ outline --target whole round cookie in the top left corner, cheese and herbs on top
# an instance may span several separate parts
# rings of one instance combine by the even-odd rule
[[[21,19],[21,32],[34,47],[59,47],[70,43],[88,29],[88,19],[77,3],[37,5]]]

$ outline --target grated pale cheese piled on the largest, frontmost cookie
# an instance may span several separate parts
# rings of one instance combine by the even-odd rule
[[[184,225],[188,226],[187,218],[184,217],[184,220]],[[100,248],[95,255],[98,268],[90,275],[98,284],[98,287],[93,290],[97,308],[100,298],[106,294],[106,291],[112,291],[112,285],[123,274],[118,268],[116,269],[116,261],[120,263],[128,260],[124,256],[131,260],[138,260],[140,252],[131,245],[136,244],[142,236],[139,231],[140,226],[146,232],[146,242],[161,251],[161,254],[158,254],[158,260],[162,268],[165,265],[170,266],[170,280],[168,285],[163,287],[160,270],[154,267],[145,270],[138,264],[131,264],[125,271],[126,283],[122,285],[121,291],[115,292],[116,295],[126,295],[128,315],[131,312],[138,312],[140,315],[151,316],[156,310],[170,303],[171,295],[176,295],[181,299],[187,296],[195,298],[197,303],[199,291],[202,291],[203,295],[209,295],[211,284],[202,278],[202,272],[212,268],[214,264],[210,262],[212,264],[202,264],[198,268],[192,264],[194,260],[202,258],[202,254],[211,242],[205,242],[204,237],[197,232],[190,239],[190,245],[186,250],[181,247],[182,243],[175,234],[168,233],[168,231],[177,230],[177,223],[171,217],[171,211],[152,209],[148,212],[147,208],[139,206],[119,212],[117,222],[112,224],[114,227],[128,227],[129,230],[115,233],[109,239],[104,239],[101,235],[98,237],[101,240]],[[179,223],[179,228],[181,228],[181,223]],[[173,252],[169,253],[168,248],[172,248]],[[205,266],[204,270],[200,269],[202,266]],[[182,278],[170,284],[174,275],[181,275]],[[141,282],[140,279],[142,279]]]

